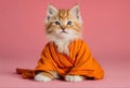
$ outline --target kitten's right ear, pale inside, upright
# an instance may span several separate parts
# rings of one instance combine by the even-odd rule
[[[70,10],[69,13],[72,13],[73,15],[75,15],[80,21],[81,21],[81,16],[80,16],[80,9],[78,3],[75,4]]]

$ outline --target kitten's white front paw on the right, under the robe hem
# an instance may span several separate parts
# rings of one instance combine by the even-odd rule
[[[84,80],[84,76],[80,76],[80,75],[66,75],[65,76],[65,80],[67,82],[81,82]]]

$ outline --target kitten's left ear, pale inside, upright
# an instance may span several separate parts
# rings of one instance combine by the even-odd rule
[[[53,6],[52,4],[49,4],[48,6],[48,12],[47,12],[47,15],[48,15],[48,20],[50,19],[50,17],[53,17],[55,14],[57,14],[58,10]]]

